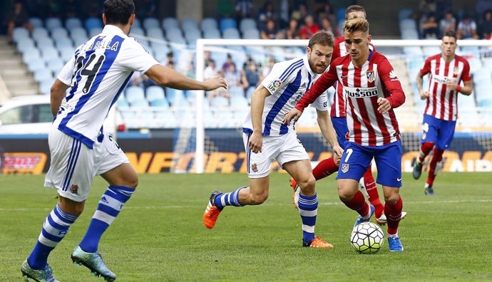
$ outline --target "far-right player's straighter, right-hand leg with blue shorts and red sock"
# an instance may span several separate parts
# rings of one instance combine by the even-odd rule
[[[441,120],[440,122],[436,147],[434,147],[434,153],[432,155],[431,163],[429,164],[429,175],[427,176],[427,181],[424,187],[424,193],[426,195],[434,195],[434,179],[436,179],[436,175],[444,167],[444,150],[447,150],[451,145],[451,141],[453,141],[455,127],[456,121]]]

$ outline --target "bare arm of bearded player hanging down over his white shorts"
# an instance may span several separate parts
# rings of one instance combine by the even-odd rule
[[[263,108],[265,108],[265,98],[268,96],[270,96],[270,92],[261,84],[258,85],[251,95],[251,122],[253,132],[248,145],[254,153],[262,152],[262,114]]]

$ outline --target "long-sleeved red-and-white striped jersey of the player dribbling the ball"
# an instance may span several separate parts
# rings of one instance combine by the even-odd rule
[[[371,51],[361,68],[354,66],[350,56],[338,58],[299,100],[296,108],[304,110],[337,81],[342,83],[347,98],[349,142],[381,146],[400,139],[393,108],[398,108],[405,102],[405,93],[385,56]],[[380,97],[389,100],[391,110],[388,113],[381,114],[377,111],[377,100]]]

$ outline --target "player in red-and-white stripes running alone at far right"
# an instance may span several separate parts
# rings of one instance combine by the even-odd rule
[[[441,43],[442,53],[426,59],[417,74],[416,83],[420,98],[426,99],[424,120],[422,121],[422,140],[419,157],[414,163],[412,175],[419,179],[424,159],[434,149],[429,165],[429,176],[424,187],[426,195],[434,195],[434,179],[441,169],[444,150],[453,140],[456,117],[458,117],[458,94],[471,95],[472,84],[470,65],[465,58],[457,56],[456,33],[444,33]],[[429,90],[422,88],[422,78],[429,73]],[[463,81],[464,86],[460,83]]]

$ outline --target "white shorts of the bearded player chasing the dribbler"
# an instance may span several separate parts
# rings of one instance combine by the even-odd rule
[[[309,160],[306,150],[293,130],[286,135],[263,136],[262,152],[256,154],[248,145],[250,136],[249,133],[242,134],[246,151],[247,174],[250,178],[266,177],[270,174],[270,167],[274,160],[277,160],[280,167],[286,162]]]

